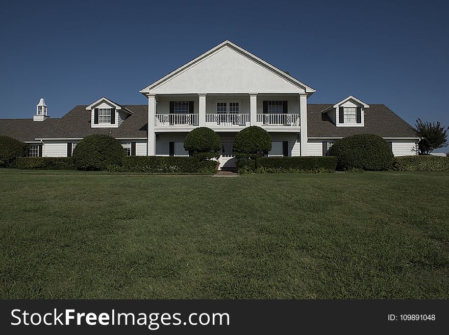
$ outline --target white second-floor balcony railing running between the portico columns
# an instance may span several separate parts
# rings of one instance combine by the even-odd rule
[[[203,123],[216,130],[239,130],[240,128],[257,124],[269,129],[300,129],[300,114],[257,114],[256,122],[251,122],[250,114],[214,113],[205,114],[204,122],[200,122],[199,114],[156,114],[155,127],[159,129],[194,128]]]

